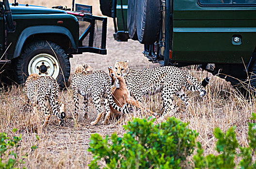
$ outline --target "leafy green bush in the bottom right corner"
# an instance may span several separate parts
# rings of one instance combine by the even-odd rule
[[[256,120],[256,114],[253,113],[251,120]],[[235,157],[241,157],[240,169],[256,169],[256,162],[253,163],[252,156],[256,150],[256,124],[249,123],[248,140],[249,147],[242,147],[236,139],[235,127],[231,127],[224,134],[219,128],[215,128],[214,136],[218,139],[216,151],[219,155],[203,156],[204,150],[198,143],[197,155],[194,155],[195,169],[234,169],[236,164]],[[238,148],[240,153],[237,153]]]

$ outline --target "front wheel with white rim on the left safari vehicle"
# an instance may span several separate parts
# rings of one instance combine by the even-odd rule
[[[64,88],[70,75],[70,62],[65,51],[56,43],[47,41],[32,42],[25,46],[21,56],[14,61],[15,79],[18,84],[36,73],[52,76]]]

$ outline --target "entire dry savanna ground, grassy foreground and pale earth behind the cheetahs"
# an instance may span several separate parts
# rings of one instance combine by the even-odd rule
[[[43,5],[51,7],[54,5],[71,6],[71,0],[18,0],[21,3],[29,3],[34,5]],[[77,3],[93,4],[94,14],[100,14],[97,0],[77,0]],[[145,69],[159,66],[152,64],[141,53],[143,45],[139,42],[115,42],[112,37],[111,19],[108,24],[107,49],[108,55],[101,56],[96,54],[85,53],[83,55],[74,56],[70,60],[71,72],[74,71],[76,64],[86,62],[95,70],[105,70],[114,64],[116,59],[129,59],[129,66],[134,69]],[[203,99],[199,97],[198,92],[188,92],[189,98],[192,100],[192,106],[184,113],[185,105],[176,99],[177,105],[181,108],[176,114],[177,118],[183,122],[189,122],[189,127],[199,133],[197,141],[202,143],[205,149],[205,155],[217,154],[214,150],[216,139],[213,136],[213,129],[220,127],[226,131],[229,127],[236,125],[237,139],[241,145],[247,146],[246,139],[248,130],[248,121],[251,113],[256,112],[256,101],[246,100],[234,90],[230,84],[224,80],[211,76],[207,72],[194,70],[193,67],[184,68],[194,75],[199,81],[206,76],[211,77],[211,81],[206,87],[207,95]],[[82,102],[80,101],[80,120],[79,125],[74,126],[72,112],[74,111],[74,103],[70,88],[61,92],[61,101],[66,104],[67,119],[64,127],[58,127],[55,117],[51,117],[51,121],[46,128],[40,127],[42,118],[40,114],[32,114],[28,111],[24,88],[22,86],[14,86],[9,89],[0,90],[0,132],[5,132],[8,136],[22,134],[22,142],[20,153],[30,152],[32,145],[37,145],[34,152],[29,153],[25,159],[25,164],[19,167],[38,168],[38,169],[54,169],[54,168],[87,168],[88,163],[92,159],[92,155],[87,152],[89,147],[90,135],[99,133],[103,137],[116,132],[122,136],[124,129],[122,124],[126,124],[131,116],[144,117],[144,113],[139,111],[134,114],[128,114],[122,117],[120,123],[117,124],[113,120],[110,125],[103,126],[101,121],[96,126],[91,126],[96,118],[96,111],[91,103],[89,103],[89,120],[84,120],[81,113]],[[144,104],[152,111],[160,111],[160,97],[153,96],[144,101]],[[16,134],[12,129],[17,128]],[[36,130],[36,131],[35,131]],[[36,135],[40,140],[36,141]],[[189,157],[188,161],[192,161]],[[191,168],[187,166],[186,168]]]

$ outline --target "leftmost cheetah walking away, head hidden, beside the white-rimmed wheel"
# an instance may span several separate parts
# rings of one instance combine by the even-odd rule
[[[59,84],[51,76],[39,76],[33,73],[26,80],[25,93],[27,99],[32,105],[38,102],[40,110],[46,116],[43,126],[47,126],[50,118],[47,102],[53,115],[58,118],[59,125],[64,126],[65,105],[59,101],[59,92]]]

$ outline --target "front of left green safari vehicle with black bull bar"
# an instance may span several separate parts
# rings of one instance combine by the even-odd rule
[[[22,84],[32,73],[48,75],[64,87],[69,58],[92,52],[106,55],[107,18],[92,6],[46,8],[0,1],[0,76]]]

